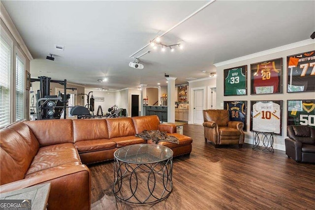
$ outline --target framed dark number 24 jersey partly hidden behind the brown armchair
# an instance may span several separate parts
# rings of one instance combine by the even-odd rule
[[[224,109],[229,112],[229,120],[243,122],[246,131],[247,101],[224,101]]]

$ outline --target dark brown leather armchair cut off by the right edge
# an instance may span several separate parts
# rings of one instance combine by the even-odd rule
[[[285,154],[297,162],[315,163],[315,129],[307,125],[288,125]]]

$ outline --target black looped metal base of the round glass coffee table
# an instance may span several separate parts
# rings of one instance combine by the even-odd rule
[[[119,201],[155,204],[172,192],[172,157],[146,164],[126,163],[116,158],[114,161],[114,193]]]

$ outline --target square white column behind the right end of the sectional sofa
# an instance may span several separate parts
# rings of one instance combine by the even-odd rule
[[[166,77],[167,83],[167,122],[175,122],[175,80],[176,77]]]

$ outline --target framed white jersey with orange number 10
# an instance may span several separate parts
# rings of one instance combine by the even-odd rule
[[[282,100],[251,101],[251,131],[282,135]]]

